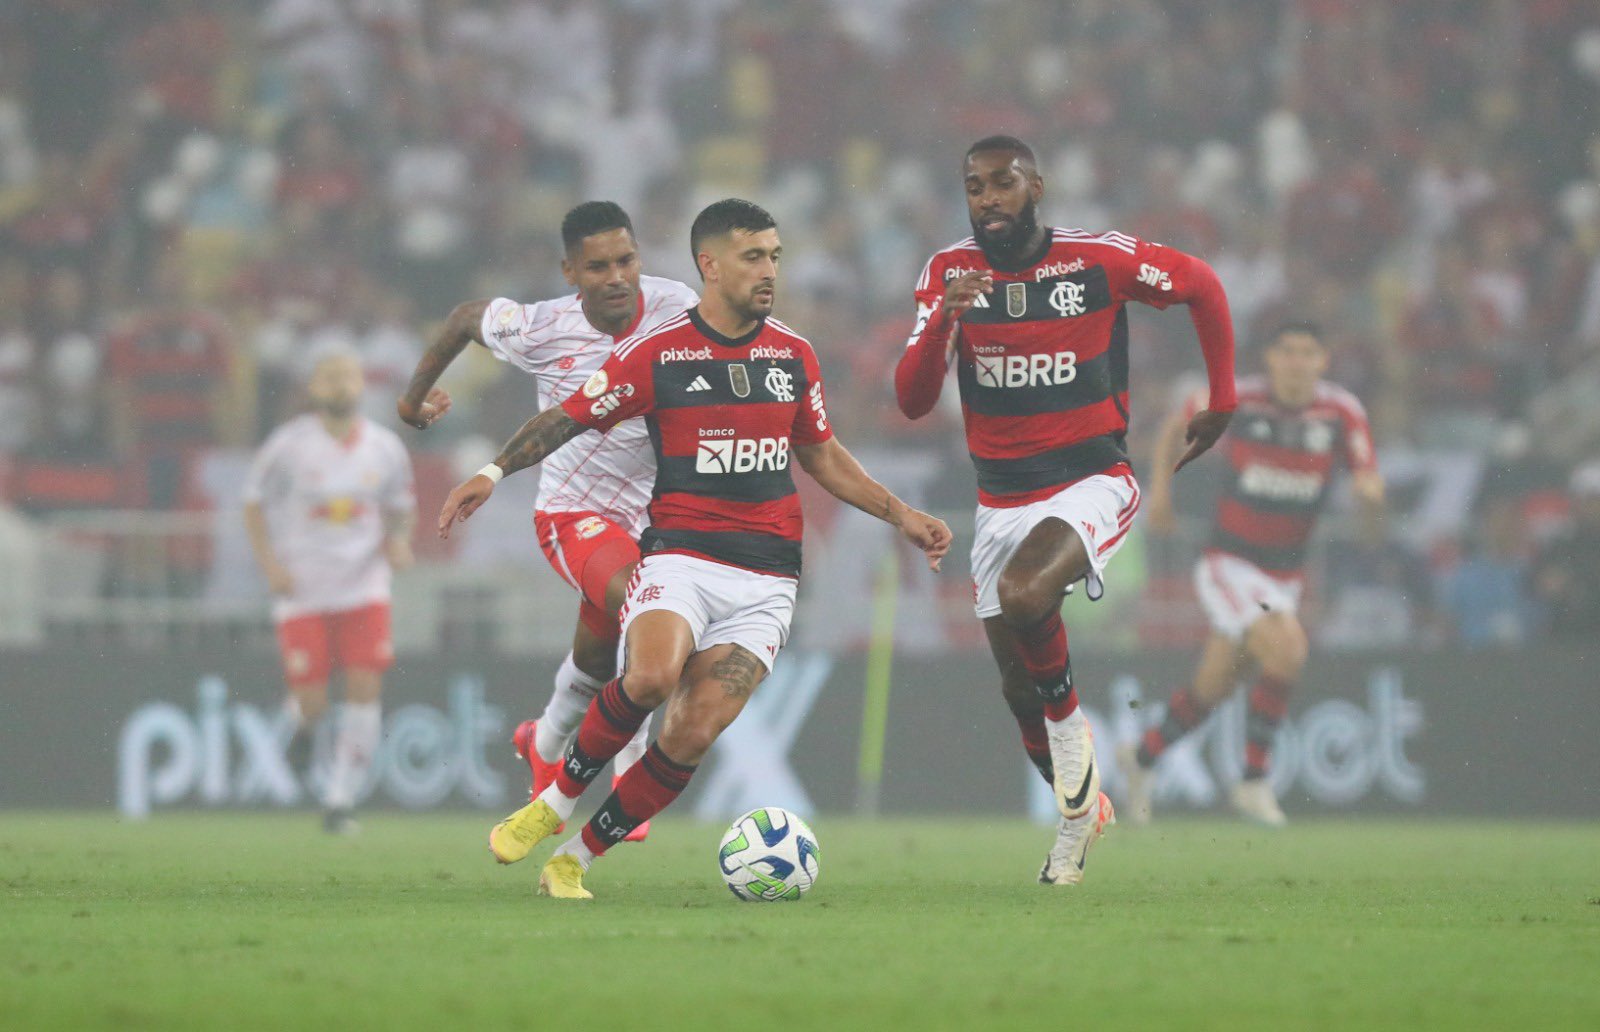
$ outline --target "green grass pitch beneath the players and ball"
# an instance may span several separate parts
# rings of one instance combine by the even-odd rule
[[[1600,1029],[1600,824],[813,821],[739,904],[659,822],[536,898],[483,816],[0,814],[0,1029]]]

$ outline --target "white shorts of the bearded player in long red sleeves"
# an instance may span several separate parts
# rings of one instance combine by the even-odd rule
[[[978,507],[973,528],[973,608],[978,619],[1000,616],[1000,573],[1016,555],[1029,531],[1054,517],[1078,531],[1090,555],[1090,598],[1106,592],[1106,563],[1128,539],[1139,510],[1139,485],[1133,474],[1096,474],[1050,498],[1014,509]]]

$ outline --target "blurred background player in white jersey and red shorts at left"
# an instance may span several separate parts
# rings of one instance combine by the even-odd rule
[[[328,709],[328,680],[344,672],[344,712],[323,792],[323,827],[357,830],[350,816],[382,734],[379,691],[394,662],[389,582],[411,565],[416,498],[400,438],[365,419],[362,366],[325,355],[307,394],[315,411],[267,437],[245,482],[245,528],[272,590],[285,709],[296,749]]]

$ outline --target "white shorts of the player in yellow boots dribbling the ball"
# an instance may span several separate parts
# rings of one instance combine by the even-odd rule
[[[690,624],[694,651],[738,645],[773,669],[795,614],[794,578],[778,578],[672,552],[646,555],[634,568],[622,603],[622,640],[642,613],[666,610]]]

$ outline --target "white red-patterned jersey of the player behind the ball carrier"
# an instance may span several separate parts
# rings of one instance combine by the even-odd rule
[[[682,315],[699,296],[677,280],[638,277],[638,318],[613,338],[595,330],[582,299],[566,294],[522,304],[496,298],[483,312],[483,342],[501,362],[533,373],[539,410],[560,405],[611,355],[618,341]],[[539,512],[597,512],[635,538],[648,525],[656,482],[656,454],[643,419],[629,419],[610,432],[584,434],[550,454],[541,466]]]

